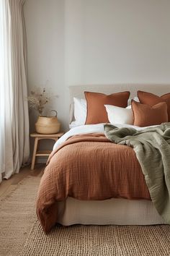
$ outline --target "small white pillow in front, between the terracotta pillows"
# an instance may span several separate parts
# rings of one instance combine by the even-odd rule
[[[131,105],[120,108],[112,105],[104,105],[110,124],[133,124],[133,111]]]

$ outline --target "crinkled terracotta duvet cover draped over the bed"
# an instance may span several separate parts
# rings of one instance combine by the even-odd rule
[[[37,217],[46,233],[57,223],[58,201],[68,196],[151,200],[133,148],[103,133],[74,135],[51,153],[37,196]]]

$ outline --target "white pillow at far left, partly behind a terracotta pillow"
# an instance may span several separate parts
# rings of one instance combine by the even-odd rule
[[[77,125],[85,124],[86,121],[86,100],[84,98],[73,98],[74,118]]]

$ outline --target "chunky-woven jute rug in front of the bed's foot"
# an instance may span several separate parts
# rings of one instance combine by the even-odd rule
[[[22,255],[170,255],[170,227],[70,226],[45,235],[36,221]]]

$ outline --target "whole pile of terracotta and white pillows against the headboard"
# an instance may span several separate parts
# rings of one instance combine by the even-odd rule
[[[73,98],[76,124],[134,124],[148,127],[170,121],[170,93],[154,95],[138,90],[138,97],[129,99],[130,92],[84,92],[85,99]],[[131,105],[128,106],[128,102]]]

